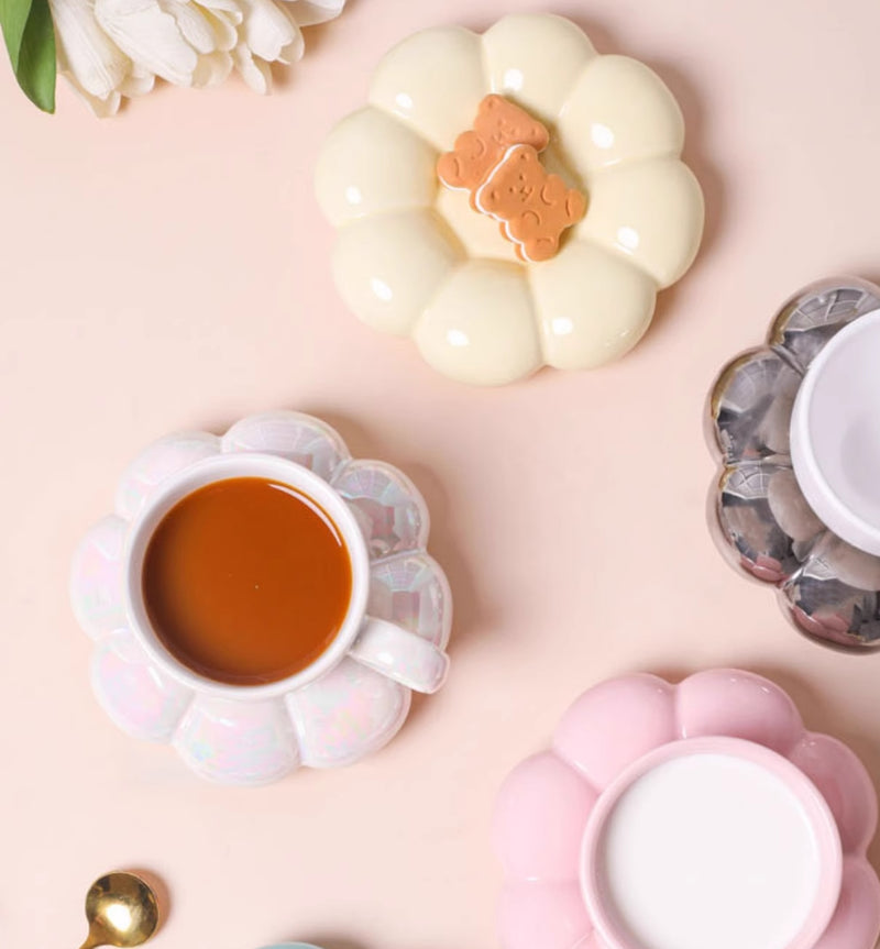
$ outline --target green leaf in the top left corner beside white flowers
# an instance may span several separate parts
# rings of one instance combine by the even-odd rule
[[[9,58],[24,95],[44,112],[55,111],[55,27],[48,0],[0,0]]]

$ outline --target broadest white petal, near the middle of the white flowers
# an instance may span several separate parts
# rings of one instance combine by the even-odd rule
[[[198,55],[155,0],[96,0],[95,15],[138,65],[176,86],[193,85]]]

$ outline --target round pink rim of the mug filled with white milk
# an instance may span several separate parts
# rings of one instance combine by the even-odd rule
[[[603,900],[598,851],[608,818],[625,792],[658,765],[693,754],[725,754],[767,768],[801,803],[820,851],[820,880],[816,902],[800,931],[785,949],[813,949],[828,928],[840,898],[844,853],[837,823],[816,785],[788,758],[763,744],[727,736],[685,738],[662,744],[632,762],[602,792],[586,824],[581,845],[580,868],[581,894],[596,929],[612,949],[644,949],[628,938],[615,919],[614,911]]]

